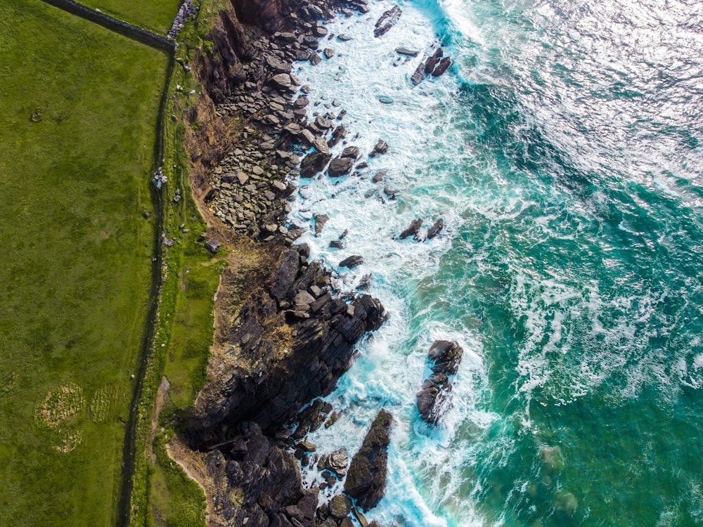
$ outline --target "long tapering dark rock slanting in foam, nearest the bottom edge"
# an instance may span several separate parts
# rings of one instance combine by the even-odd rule
[[[390,427],[393,417],[381,410],[363,439],[359,452],[352,458],[344,490],[367,511],[378,505],[386,487],[386,470]]]

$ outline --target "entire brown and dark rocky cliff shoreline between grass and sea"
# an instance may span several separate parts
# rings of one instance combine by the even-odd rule
[[[322,60],[318,47],[332,37],[325,20],[355,11],[368,12],[364,0],[232,0],[207,35],[211,45],[183,65],[203,86],[188,115],[191,187],[211,226],[205,240],[229,251],[229,266],[209,380],[169,452],[205,489],[212,526],[349,526],[352,515],[374,525],[352,499],[367,510],[385,488],[387,412],[350,466],[344,450],[311,456],[315,445],[304,441],[307,431],[333,426],[335,412],[317,398],[333,390],[385,310],[368,294],[335,289],[330,272],[296,244],[302,229],[286,221],[291,178],[340,176],[365,158],[350,145],[333,159],[330,146],[347,134],[345,112],[321,110],[309,122],[309,101],[298,95],[307,87],[291,74],[297,60]],[[311,147],[303,159],[295,153]],[[366,155],[387,148],[379,141]],[[327,481],[303,488],[299,462],[319,462]],[[318,507],[321,488],[344,476],[348,495]]]

